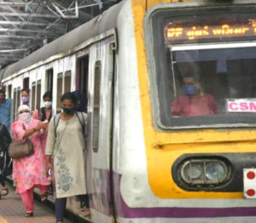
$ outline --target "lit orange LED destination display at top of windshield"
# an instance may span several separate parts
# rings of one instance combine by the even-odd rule
[[[256,20],[240,20],[234,23],[218,20],[219,25],[209,21],[203,24],[192,22],[173,22],[166,26],[166,40],[171,42],[192,42],[195,40],[210,40],[236,37],[256,37]]]

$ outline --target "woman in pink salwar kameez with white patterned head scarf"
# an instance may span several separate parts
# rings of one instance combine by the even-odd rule
[[[47,198],[49,181],[45,174],[45,157],[42,148],[44,134],[39,131],[45,129],[48,123],[42,123],[31,116],[28,106],[20,106],[18,109],[19,120],[12,124],[11,129],[15,141],[32,140],[34,153],[29,157],[14,159],[13,178],[16,183],[16,192],[26,207],[26,217],[32,217],[34,211],[33,188],[38,187],[41,191],[42,201]]]

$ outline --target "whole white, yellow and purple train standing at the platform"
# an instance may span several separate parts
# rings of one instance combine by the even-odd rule
[[[255,9],[250,0],[124,0],[1,72],[14,111],[25,85],[32,110],[48,90],[54,113],[64,92],[86,95],[93,222],[256,220],[256,184],[243,179],[256,160]],[[214,112],[173,113],[191,75]]]

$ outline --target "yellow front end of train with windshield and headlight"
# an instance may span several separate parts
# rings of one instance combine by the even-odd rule
[[[256,4],[184,2],[133,3],[150,188],[141,217],[255,222]]]

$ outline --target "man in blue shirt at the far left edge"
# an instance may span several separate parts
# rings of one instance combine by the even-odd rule
[[[0,123],[3,123],[10,132],[12,102],[5,97],[5,91],[0,89]]]

